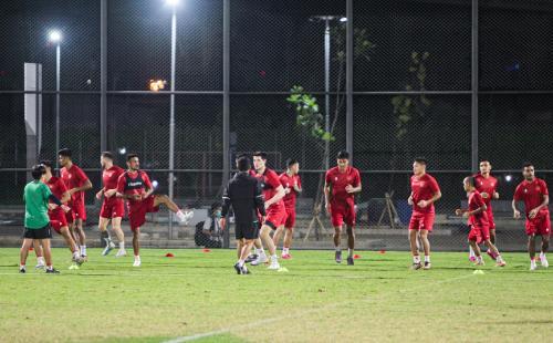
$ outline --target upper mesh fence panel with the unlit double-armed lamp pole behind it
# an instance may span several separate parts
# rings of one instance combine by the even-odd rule
[[[332,17],[332,90],[338,71],[345,69],[345,1],[248,1],[230,2],[232,91],[289,91],[302,85],[324,91],[324,17]],[[342,62],[337,61],[338,59]],[[345,75],[344,72],[342,72]]]

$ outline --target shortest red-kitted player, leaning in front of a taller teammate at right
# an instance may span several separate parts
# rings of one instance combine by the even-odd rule
[[[482,241],[488,247],[492,259],[495,260],[497,266],[504,267],[505,261],[501,258],[498,248],[490,240],[490,221],[488,220],[488,206],[486,205],[484,198],[476,188],[476,177],[469,176],[462,180],[462,186],[467,196],[469,198],[468,209],[457,209],[457,216],[463,216],[468,218],[468,225],[470,227],[469,232],[469,245],[476,253],[476,264],[484,264],[480,252],[480,245]]]

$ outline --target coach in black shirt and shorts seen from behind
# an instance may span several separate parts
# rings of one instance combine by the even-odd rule
[[[259,237],[258,212],[265,216],[264,198],[258,180],[249,175],[250,159],[241,156],[237,159],[238,173],[229,180],[222,196],[220,227],[225,229],[227,215],[232,206],[234,211],[238,262],[234,269],[239,274],[249,273],[244,261],[251,251],[253,241]]]

